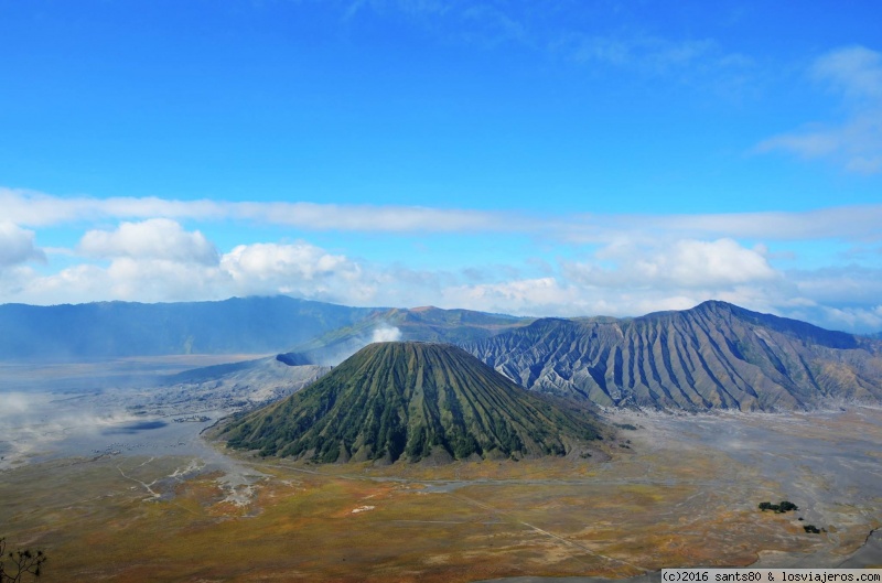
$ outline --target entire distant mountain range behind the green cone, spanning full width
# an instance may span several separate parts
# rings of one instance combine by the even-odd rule
[[[0,359],[251,353],[278,354],[272,366],[327,366],[372,342],[424,341],[459,345],[533,391],[605,407],[775,411],[882,402],[882,339],[724,302],[634,319],[566,320],[287,296],[7,304],[0,332]],[[249,366],[250,379],[278,378],[275,369],[263,375],[269,361]],[[234,373],[244,374],[220,367],[198,375]]]

